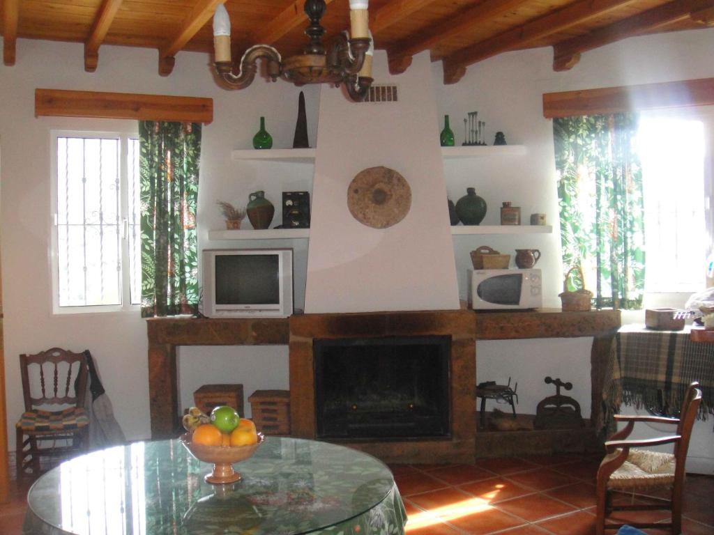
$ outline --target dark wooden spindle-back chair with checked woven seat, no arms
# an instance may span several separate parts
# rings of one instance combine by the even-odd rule
[[[89,429],[84,410],[88,370],[82,353],[53,347],[20,355],[20,373],[25,412],[15,424],[18,481],[29,475],[27,469],[39,476],[40,457],[61,459],[86,450]],[[59,410],[49,410],[56,406]]]

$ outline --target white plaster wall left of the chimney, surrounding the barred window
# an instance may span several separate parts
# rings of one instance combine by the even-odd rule
[[[223,225],[216,200],[245,205],[248,194],[266,190],[273,203],[281,202],[283,188],[306,189],[311,173],[293,168],[257,170],[249,164],[231,161],[231,150],[251,148],[258,119],[266,116],[266,126],[276,148],[292,146],[297,117],[298,88],[287,83],[256,80],[243,91],[224,91],[213,82],[208,55],[181,53],[171,76],[157,73],[156,51],[102,46],[99,68],[86,73],[84,52],[79,44],[21,39],[17,61],[12,67],[0,65],[0,169],[1,255],[4,288],[4,341],[6,397],[9,436],[22,412],[22,388],[17,355],[38,352],[53,346],[72,350],[88,348],[96,358],[116,418],[129,439],[150,436],[149,382],[146,365],[146,325],[139,312],[82,315],[52,315],[49,268],[50,130],[53,128],[106,129],[106,121],[68,118],[35,118],[35,88],[79,89],[159,93],[213,98],[214,121],[203,127],[201,188],[198,199],[199,248],[237,247],[238,243],[208,243],[208,230]],[[304,88],[308,136],[315,143],[319,88]],[[307,178],[306,178],[307,177]],[[250,228],[250,224],[246,225]],[[291,246],[290,243],[251,243],[251,247]],[[298,266],[296,297],[301,301],[306,265],[306,244],[296,243]],[[245,245],[243,245],[245,246]],[[302,267],[299,267],[302,264]],[[302,275],[300,275],[302,273]],[[189,349],[189,348],[186,348]],[[273,362],[286,360],[286,348],[260,348],[255,362],[246,370],[234,370],[240,354],[225,355],[218,348],[190,348],[186,355],[194,365],[183,373],[193,392],[204,377],[218,372],[220,382],[240,382],[243,377],[271,377],[283,385]],[[213,355],[216,357],[213,357]],[[181,353],[181,360],[186,360]],[[221,360],[223,359],[223,360]],[[287,367],[287,364],[285,365]],[[223,370],[221,373],[218,370]],[[286,376],[286,374],[284,374]],[[276,379],[277,377],[277,379]],[[281,382],[282,381],[282,382]],[[248,384],[251,384],[248,382]],[[252,391],[249,391],[250,394]],[[14,449],[14,438],[9,447]]]

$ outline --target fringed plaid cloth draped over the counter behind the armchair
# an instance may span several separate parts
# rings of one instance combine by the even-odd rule
[[[615,335],[603,384],[605,435],[614,432],[620,405],[664,409],[678,416],[684,392],[693,381],[702,388],[698,417],[714,413],[714,344],[692,342],[689,329],[654,331],[623,327]]]

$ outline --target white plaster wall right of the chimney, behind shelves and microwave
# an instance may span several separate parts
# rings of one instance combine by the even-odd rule
[[[575,89],[624,86],[714,76],[714,29],[684,31],[626,39],[583,54],[570,71],[553,71],[550,48],[501,54],[468,67],[461,81],[451,86],[436,84],[440,120],[448,113],[463,141],[463,123],[468,111],[478,111],[486,121],[486,141],[493,143],[503,131],[509,144],[523,144],[528,155],[516,158],[478,158],[449,161],[445,165],[449,195],[456,201],[473,186],[488,203],[484,225],[497,225],[504,200],[521,206],[521,220],[528,223],[533,212],[545,212],[553,225],[551,235],[457,236],[453,239],[461,298],[466,297],[469,251],[491,245],[501,253],[516,248],[538,248],[543,254],[536,267],[543,270],[543,305],[560,308],[562,287],[558,193],[553,156],[552,121],[543,118],[543,93]],[[441,81],[441,63],[433,63],[433,76]],[[461,128],[459,128],[461,126]],[[513,258],[511,258],[513,267]],[[641,321],[641,320],[640,320]],[[535,405],[554,392],[545,385],[546,375],[573,382],[583,415],[590,413],[590,392],[582,392],[590,379],[590,338],[573,340],[508,340],[478,342],[478,381],[518,381],[519,410],[535,413]],[[582,343],[581,343],[582,342]],[[526,355],[532,355],[531,358]],[[553,358],[555,357],[555,358]],[[514,364],[518,362],[518,365]]]

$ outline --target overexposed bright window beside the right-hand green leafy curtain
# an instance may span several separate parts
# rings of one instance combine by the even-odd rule
[[[705,287],[711,252],[714,115],[645,112],[638,152],[645,201],[645,292],[691,294]]]

